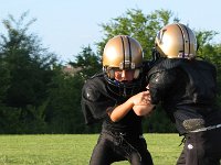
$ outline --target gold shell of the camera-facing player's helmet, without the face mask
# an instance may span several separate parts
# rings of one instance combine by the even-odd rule
[[[104,48],[103,68],[109,78],[114,78],[116,69],[135,69],[134,78],[138,78],[143,65],[143,48],[138,41],[127,35],[110,38]]]

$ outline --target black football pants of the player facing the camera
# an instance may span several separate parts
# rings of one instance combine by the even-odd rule
[[[143,136],[127,136],[103,131],[94,147],[90,165],[109,165],[128,161],[131,165],[152,165],[150,153]]]

